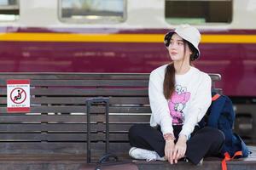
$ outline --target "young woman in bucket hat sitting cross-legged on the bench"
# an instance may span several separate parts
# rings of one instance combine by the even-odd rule
[[[166,34],[172,62],[150,74],[150,126],[131,127],[131,157],[168,160],[171,164],[185,158],[198,164],[204,156],[218,155],[224,134],[216,128],[198,126],[212,99],[211,78],[191,65],[200,56],[200,41],[200,32],[189,25]]]

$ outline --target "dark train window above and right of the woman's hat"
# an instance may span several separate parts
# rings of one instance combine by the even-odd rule
[[[232,0],[166,0],[166,22],[170,24],[230,23]]]

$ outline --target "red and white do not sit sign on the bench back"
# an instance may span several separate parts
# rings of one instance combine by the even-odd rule
[[[7,111],[30,112],[30,80],[7,81]]]

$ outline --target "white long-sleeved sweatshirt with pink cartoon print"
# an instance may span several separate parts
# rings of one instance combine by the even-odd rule
[[[211,105],[211,77],[190,66],[185,74],[175,75],[175,92],[171,99],[166,99],[163,93],[166,66],[158,67],[149,77],[148,95],[152,111],[150,125],[160,125],[161,132],[165,134],[173,133],[172,125],[182,124],[179,134],[189,139],[195,125]]]

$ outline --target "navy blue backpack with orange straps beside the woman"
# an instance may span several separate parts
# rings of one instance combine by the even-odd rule
[[[224,156],[222,161],[223,169],[226,169],[226,162],[234,158],[247,157],[250,151],[243,140],[233,133],[232,127],[235,122],[235,111],[232,101],[228,96],[212,93],[212,105],[207,115],[200,122],[201,126],[216,127],[224,133],[225,143],[221,150]]]

